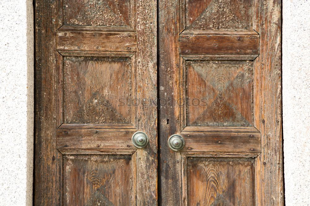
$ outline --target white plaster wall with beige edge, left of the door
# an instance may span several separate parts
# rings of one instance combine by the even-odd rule
[[[33,2],[0,1],[0,205],[32,205]]]

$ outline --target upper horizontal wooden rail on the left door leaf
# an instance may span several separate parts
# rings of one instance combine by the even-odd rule
[[[62,26],[56,33],[58,50],[135,52],[136,34],[128,27]]]

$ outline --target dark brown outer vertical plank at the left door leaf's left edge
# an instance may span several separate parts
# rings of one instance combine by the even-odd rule
[[[57,52],[60,1],[35,1],[35,177],[34,204],[57,204]],[[48,174],[48,175],[47,175]]]

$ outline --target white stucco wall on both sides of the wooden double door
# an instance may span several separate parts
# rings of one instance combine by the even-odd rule
[[[310,1],[283,0],[286,205],[310,205]],[[0,205],[32,205],[33,5],[0,1]]]

